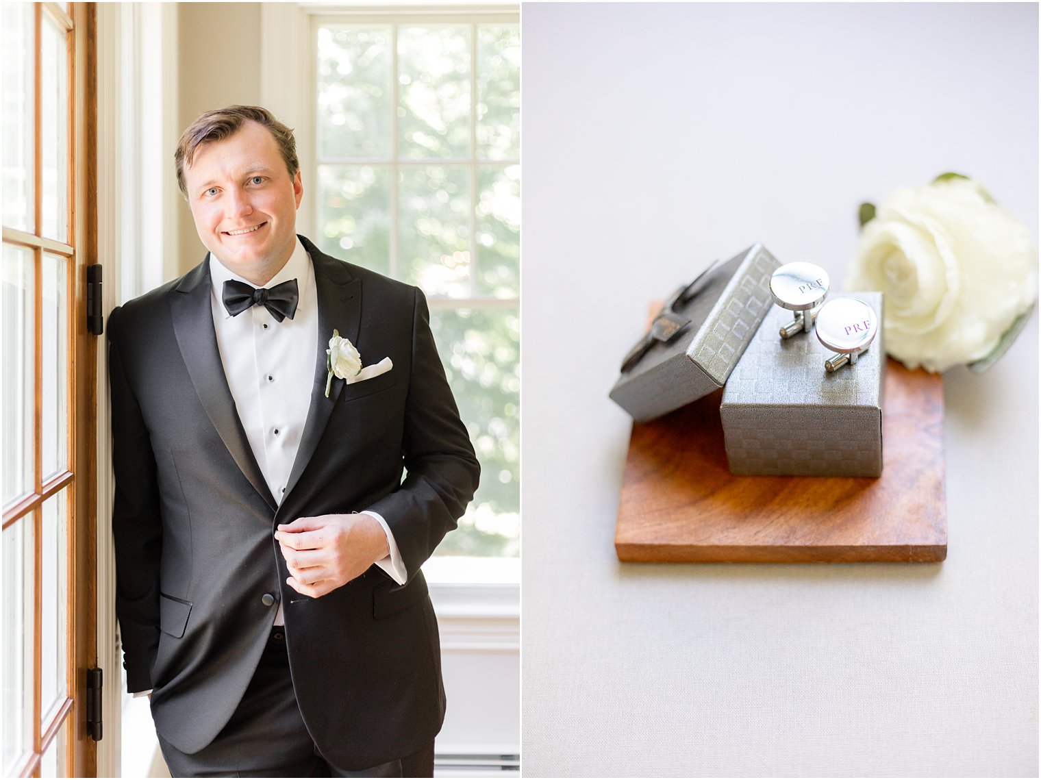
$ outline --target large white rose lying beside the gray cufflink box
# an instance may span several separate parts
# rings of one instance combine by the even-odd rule
[[[897,190],[863,230],[849,290],[885,294],[886,351],[909,368],[976,371],[1008,349],[1037,301],[1038,250],[986,190],[960,174]]]

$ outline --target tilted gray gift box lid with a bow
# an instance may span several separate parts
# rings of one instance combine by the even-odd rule
[[[618,377],[611,399],[644,422],[726,384],[773,305],[769,282],[779,265],[762,244],[754,244],[713,269],[702,291],[678,311],[690,325],[667,343],[655,342]]]

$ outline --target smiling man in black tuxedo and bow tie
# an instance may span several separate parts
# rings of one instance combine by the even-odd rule
[[[129,688],[175,776],[430,776],[420,567],[479,467],[426,300],[297,235],[265,109],[203,115],[176,162],[209,252],[108,327]]]

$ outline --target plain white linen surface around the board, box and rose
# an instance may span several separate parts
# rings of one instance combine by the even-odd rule
[[[1038,237],[1038,8],[523,6],[526,776],[1037,776],[1038,318],[944,376],[948,557],[623,564],[649,302],[761,241],[841,288],[945,171]]]

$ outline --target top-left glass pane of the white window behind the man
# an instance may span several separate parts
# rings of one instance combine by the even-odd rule
[[[319,28],[320,157],[390,157],[390,42],[389,27]]]

